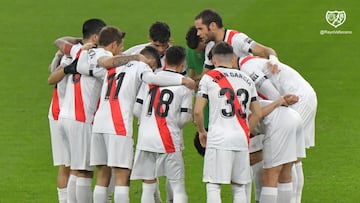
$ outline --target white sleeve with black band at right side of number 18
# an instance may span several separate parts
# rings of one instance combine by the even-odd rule
[[[193,91],[187,91],[182,99],[178,126],[182,129],[192,119]]]

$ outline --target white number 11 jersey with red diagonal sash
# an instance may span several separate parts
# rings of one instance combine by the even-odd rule
[[[93,132],[132,136],[133,107],[142,82],[141,76],[146,71],[152,70],[138,61],[108,70]]]

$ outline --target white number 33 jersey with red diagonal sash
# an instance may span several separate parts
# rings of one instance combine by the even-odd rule
[[[257,97],[254,82],[239,70],[219,67],[202,77],[198,96],[209,102],[206,147],[248,150],[249,106]]]

